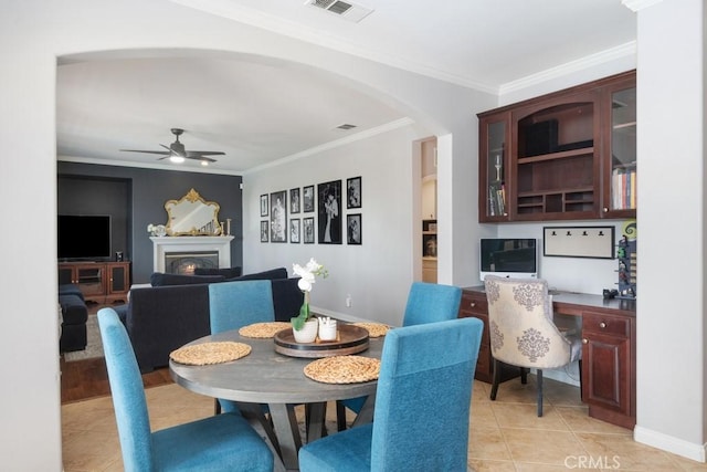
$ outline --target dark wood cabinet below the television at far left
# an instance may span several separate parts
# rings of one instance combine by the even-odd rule
[[[59,283],[78,286],[86,302],[127,301],[130,290],[129,262],[62,262]]]

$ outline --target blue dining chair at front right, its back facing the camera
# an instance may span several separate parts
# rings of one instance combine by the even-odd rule
[[[299,450],[299,470],[466,471],[483,323],[460,318],[386,335],[373,422]]]

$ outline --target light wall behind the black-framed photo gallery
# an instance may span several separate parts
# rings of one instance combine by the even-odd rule
[[[297,161],[244,176],[243,210],[244,273],[273,266],[304,264],[309,258],[324,264],[327,279],[318,279],[312,291],[313,310],[344,318],[374,319],[399,326],[413,280],[413,254],[421,245],[413,240],[420,217],[413,212],[413,140],[428,136],[404,126],[361,141],[318,153]],[[418,171],[419,172],[419,171]],[[361,213],[362,244],[261,243],[258,240],[258,198],[263,193],[289,190],[330,180],[361,176],[360,209],[339,213],[346,229],[346,214]],[[419,192],[419,189],[418,189]],[[315,217],[317,212],[288,214]],[[351,295],[351,306],[346,296]],[[294,314],[293,314],[294,315]]]

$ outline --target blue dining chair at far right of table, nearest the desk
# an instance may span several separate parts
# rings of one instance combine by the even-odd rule
[[[462,289],[453,285],[413,282],[408,294],[403,326],[454,319],[460,313]],[[336,403],[337,429],[346,429],[346,409],[358,413],[366,397],[339,400]]]

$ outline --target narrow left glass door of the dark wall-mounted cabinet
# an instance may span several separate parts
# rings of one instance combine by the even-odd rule
[[[510,114],[486,116],[479,120],[481,156],[478,188],[479,221],[508,220],[507,169],[509,162]]]

